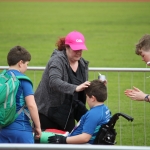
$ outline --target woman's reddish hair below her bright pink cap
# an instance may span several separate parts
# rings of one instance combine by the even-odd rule
[[[60,37],[60,38],[57,40],[55,46],[57,46],[57,49],[58,49],[59,51],[66,50],[66,47],[70,47],[69,45],[66,45],[66,44],[65,44],[65,37]]]

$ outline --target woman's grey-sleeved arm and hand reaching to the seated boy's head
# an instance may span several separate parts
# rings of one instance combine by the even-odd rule
[[[60,58],[57,58],[57,57],[51,58],[48,68],[49,68],[49,71],[48,71],[49,86],[52,89],[55,89],[61,93],[73,95],[75,91],[76,92],[83,91],[85,88],[87,88],[90,85],[89,81],[85,81],[84,83],[77,86],[77,85],[68,83],[65,80],[62,80],[62,78],[65,78],[64,77],[65,75],[68,76],[68,71]]]

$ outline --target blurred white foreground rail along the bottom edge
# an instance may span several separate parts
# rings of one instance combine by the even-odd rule
[[[0,150],[150,150],[146,146],[104,146],[89,144],[0,144]]]

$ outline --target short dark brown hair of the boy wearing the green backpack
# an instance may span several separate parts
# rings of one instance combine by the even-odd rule
[[[30,53],[21,46],[15,46],[10,49],[7,55],[7,63],[9,66],[16,65],[20,60],[24,63],[31,60]]]

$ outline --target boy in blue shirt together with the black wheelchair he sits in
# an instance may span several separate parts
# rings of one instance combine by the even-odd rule
[[[52,144],[104,144],[114,145],[116,131],[114,125],[123,116],[128,120],[132,117],[117,113],[113,117],[111,111],[104,104],[107,99],[107,87],[103,81],[93,80],[85,89],[86,102],[90,110],[83,115],[74,129],[66,136],[65,133],[43,132],[39,143]],[[38,143],[35,141],[35,143]]]

